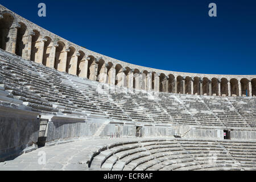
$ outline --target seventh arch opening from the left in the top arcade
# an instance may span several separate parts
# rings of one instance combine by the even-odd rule
[[[76,75],[81,78],[87,77],[87,68],[88,61],[86,60],[85,53],[83,51],[79,51],[79,56],[77,58],[77,71]]]

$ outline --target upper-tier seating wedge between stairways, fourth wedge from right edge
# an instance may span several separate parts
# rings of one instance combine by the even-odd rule
[[[172,116],[175,122],[180,124],[197,125],[195,119],[184,108],[180,102],[175,100],[175,96],[167,93],[158,93],[155,96],[160,106],[167,110],[168,114]]]

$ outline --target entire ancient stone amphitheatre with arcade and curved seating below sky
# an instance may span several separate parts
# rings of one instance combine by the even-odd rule
[[[0,48],[0,170],[256,169],[256,75],[125,63],[3,6]]]

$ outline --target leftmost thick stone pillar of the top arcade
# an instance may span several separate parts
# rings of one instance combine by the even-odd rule
[[[6,51],[13,53],[15,55],[16,52],[16,41],[17,41],[17,34],[18,28],[20,27],[19,24],[13,24],[10,27],[9,34],[7,35],[8,42],[6,42]]]

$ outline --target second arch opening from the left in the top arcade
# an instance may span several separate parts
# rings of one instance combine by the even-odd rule
[[[26,46],[26,36],[28,34],[27,26],[19,22],[20,27],[17,30],[17,39],[16,39],[16,50],[15,54],[18,56],[22,56],[24,58],[24,51]]]

